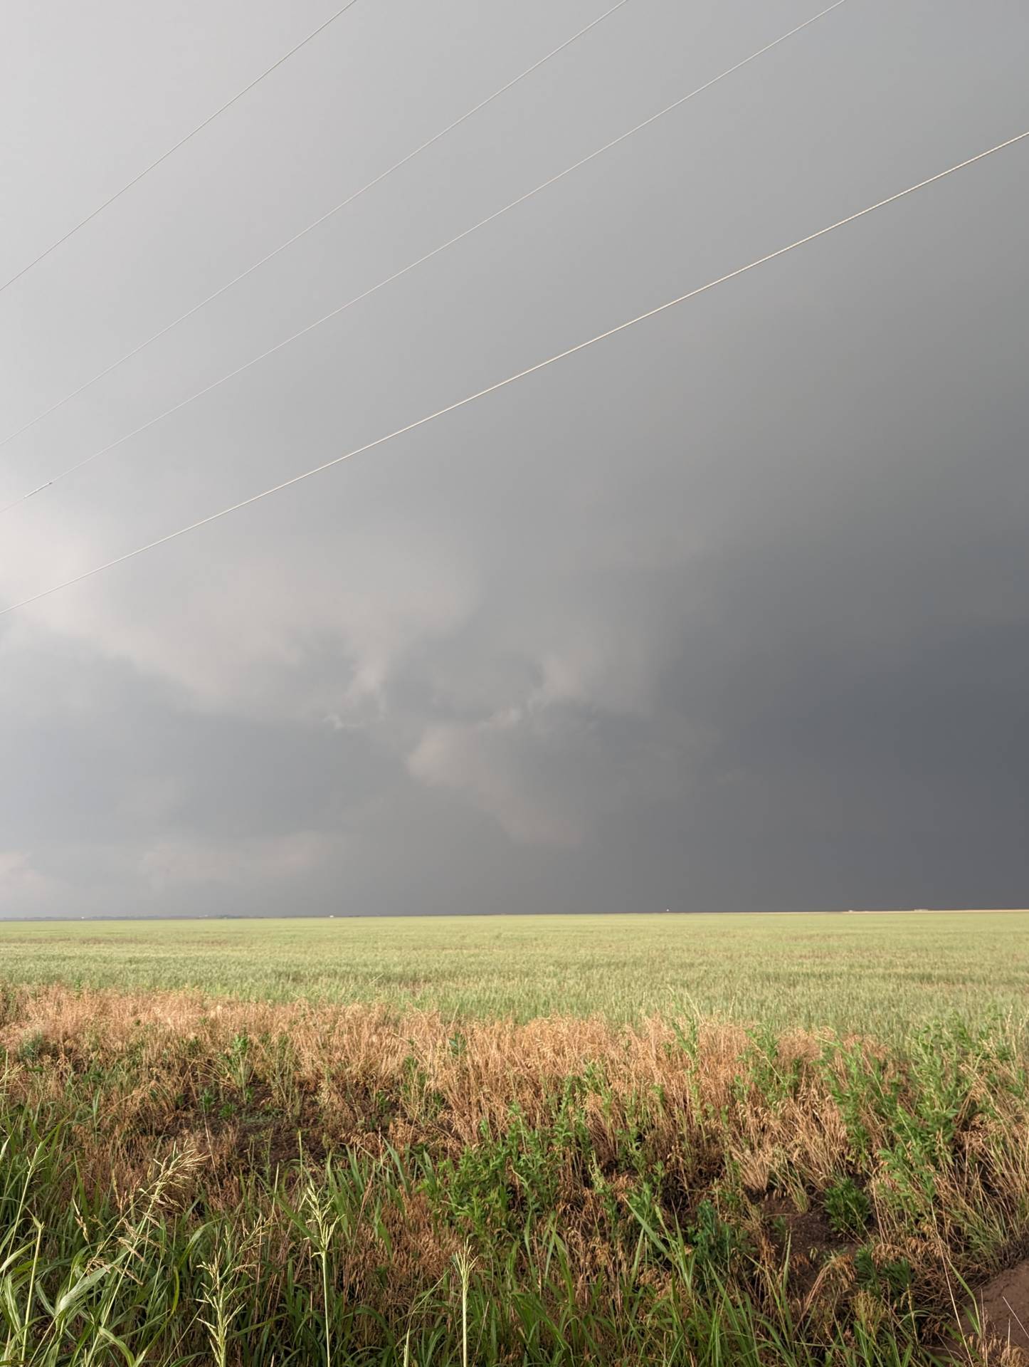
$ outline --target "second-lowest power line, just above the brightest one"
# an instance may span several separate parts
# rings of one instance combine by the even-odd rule
[[[810,25],[813,25],[816,21],[821,19],[824,15],[831,14],[832,10],[838,10],[843,3],[845,3],[845,0],[835,0],[835,3],[831,4],[827,10],[821,10],[819,14],[813,15],[810,19],[806,19],[804,23],[797,25],[797,27],[790,29],[788,33],[782,34],[782,37],[776,38],[773,42],[765,44],[765,46],[764,48],[758,48],[757,52],[752,52],[750,56],[749,57],[743,57],[742,62],[737,62],[734,66],[727,67],[724,71],[719,72],[719,75],[712,77],[711,81],[706,81],[704,85],[697,86],[694,90],[690,90],[689,94],[681,96],[678,100],[674,100],[672,104],[668,104],[663,109],[659,109],[659,112],[650,115],[649,119],[644,119],[642,123],[637,123],[634,127],[629,128],[626,133],[620,134],[616,138],[612,138],[611,142],[605,142],[601,148],[597,148],[596,150],[590,152],[588,156],[581,157],[578,161],[573,163],[570,167],[566,167],[563,171],[559,171],[556,175],[549,176],[549,179],[543,180],[540,185],[534,186],[534,189],[527,190],[525,194],[519,195],[517,200],[511,200],[502,209],[496,209],[493,213],[488,215],[485,219],[480,219],[478,223],[474,223],[470,228],[465,228],[463,232],[459,232],[456,236],[452,236],[447,242],[440,243],[440,246],[433,247],[432,252],[426,252],[424,256],[418,257],[415,261],[409,262],[406,267],[403,267],[399,271],[395,271],[392,275],[389,275],[385,279],[380,280],[377,284],[370,286],[370,288],[365,290],[362,294],[354,295],[351,299],[347,299],[346,303],[340,303],[338,308],[331,309],[328,313],[324,313],[320,319],[316,319],[313,323],[306,324],[306,327],[301,328],[298,332],[291,334],[288,338],[284,338],[282,342],[276,342],[275,346],[268,347],[268,350],[261,351],[260,355],[251,357],[251,360],[245,361],[242,365],[238,365],[235,369],[228,370],[225,375],[219,376],[217,380],[212,380],[209,384],[205,384],[204,388],[197,390],[194,394],[187,395],[184,399],[179,399],[178,403],[174,403],[171,407],[164,409],[164,411],[159,413],[156,417],[148,418],[146,422],[142,422],[139,427],[133,428],[131,432],[126,432],[123,436],[116,437],[113,442],[109,442],[107,446],[101,447],[100,450],[93,451],[90,455],[83,457],[83,459],[77,461],[74,465],[70,465],[64,470],[60,470],[57,474],[52,476],[49,480],[45,480],[42,484],[38,484],[34,489],[30,489],[27,493],[22,493],[22,495],[19,495],[19,498],[12,499],[10,503],[3,504],[0,507],[0,517],[3,517],[4,513],[10,513],[15,507],[19,507],[22,503],[27,503],[29,499],[34,498],[37,493],[42,493],[44,489],[49,489],[52,485],[57,484],[60,480],[67,478],[67,476],[75,474],[78,470],[82,470],[85,466],[92,465],[93,461],[98,461],[101,457],[109,455],[109,452],[115,451],[119,446],[123,446],[126,442],[131,442],[133,437],[139,436],[142,432],[149,431],[149,428],[156,427],[159,422],[163,422],[164,418],[171,417],[174,413],[178,413],[180,409],[184,409],[190,403],[194,403],[197,399],[204,398],[205,394],[210,394],[212,390],[217,390],[220,385],[227,384],[228,380],[234,380],[238,375],[242,375],[245,370],[249,370],[251,366],[258,365],[261,361],[266,361],[269,355],[275,355],[276,351],[282,351],[284,347],[290,346],[292,342],[298,342],[302,336],[306,336],[309,332],[313,332],[316,328],[320,328],[324,323],[328,323],[331,319],[339,317],[340,313],[344,313],[347,309],[351,309],[355,303],[361,303],[363,299],[370,298],[370,295],[376,294],[379,290],[384,288],[387,284],[392,284],[395,280],[399,280],[402,276],[409,275],[417,267],[424,265],[426,261],[430,261],[433,257],[439,256],[441,252],[445,252],[448,247],[455,246],[458,242],[462,242],[465,238],[471,236],[473,232],[477,232],[480,228],[486,227],[486,224],[495,223],[497,219],[503,217],[504,213],[508,213],[511,209],[515,209],[515,208],[518,208],[518,205],[525,204],[527,200],[532,200],[534,195],[540,194],[543,190],[547,190],[549,186],[556,185],[559,180],[563,180],[566,176],[571,175],[573,171],[578,171],[581,167],[588,165],[590,161],[596,160],[599,156],[603,156],[603,153],[609,152],[612,148],[619,146],[619,144],[625,142],[627,138],[631,138],[634,134],[641,133],[644,128],[650,127],[650,124],[656,123],[659,119],[663,119],[666,115],[671,113],[674,109],[682,108],[682,105],[685,105],[687,101],[693,100],[696,96],[702,94],[705,90],[709,90],[713,85],[717,85],[719,81],[724,81],[726,77],[732,75],[735,71],[739,71],[742,67],[745,67],[749,63],[754,62],[757,57],[764,56],[764,53],[767,53],[767,52],[771,52],[772,48],[778,48],[782,42],[786,42],[787,38],[791,38],[794,34],[801,33],[802,29],[808,29]]]

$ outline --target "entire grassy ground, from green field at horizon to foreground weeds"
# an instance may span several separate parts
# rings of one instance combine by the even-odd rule
[[[1026,1363],[1026,931],[3,924],[0,1367]]]

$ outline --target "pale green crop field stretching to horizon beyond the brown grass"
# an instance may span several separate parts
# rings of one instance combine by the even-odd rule
[[[896,1036],[1029,1017],[1029,912],[8,921],[0,980]]]

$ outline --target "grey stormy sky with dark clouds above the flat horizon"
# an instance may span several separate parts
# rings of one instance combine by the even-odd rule
[[[614,0],[358,0],[0,293],[0,437]],[[0,280],[339,0],[15,5]],[[627,0],[0,448],[0,504],[817,12]],[[1029,128],[846,0],[0,515],[0,607]],[[1024,906],[1029,141],[0,617],[0,916]]]

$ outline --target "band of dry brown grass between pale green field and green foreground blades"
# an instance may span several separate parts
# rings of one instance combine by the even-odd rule
[[[962,1280],[980,1282],[1029,1244],[1021,1046],[947,1047],[887,1053],[799,1031],[758,1044],[738,1025],[661,1018],[458,1025],[384,1007],[48,987],[7,992],[0,1106],[63,1124],[68,1200],[109,1199],[131,1221],[149,1192],[161,1218],[228,1221],[236,1278],[292,1259],[314,1282],[317,1239],[298,1245],[291,1210],[313,1228],[342,1219],[320,1204],[327,1155],[365,1163],[340,1295],[389,1323],[465,1247],[514,1258],[532,1281],[558,1230],[582,1315],[597,1288],[616,1315],[641,1295],[689,1315],[705,1292],[670,1252],[679,1240],[761,1314],[784,1288],[814,1341],[840,1325],[876,1340],[913,1305],[927,1331],[952,1319]],[[538,1188],[521,1162],[533,1136]],[[495,1154],[493,1177],[461,1196],[469,1155]],[[283,1202],[256,1202],[254,1178],[282,1182]],[[845,1180],[868,1203],[864,1228],[832,1223],[827,1193]],[[504,1200],[480,1218],[473,1197],[488,1206],[491,1181]],[[547,1211],[533,1206],[540,1191]],[[660,1228],[641,1259],[648,1221]],[[724,1230],[739,1255],[715,1247]],[[896,1269],[907,1269],[899,1289]]]

